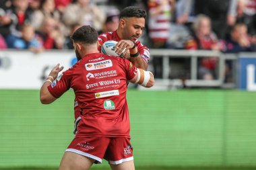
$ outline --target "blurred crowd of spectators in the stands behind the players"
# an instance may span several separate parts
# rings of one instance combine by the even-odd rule
[[[148,13],[140,40],[149,48],[256,51],[256,0],[1,0],[0,49],[72,49],[75,29],[112,32],[129,5]],[[214,79],[215,57],[200,66],[199,79]]]

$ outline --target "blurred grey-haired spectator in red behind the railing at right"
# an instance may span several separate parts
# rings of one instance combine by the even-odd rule
[[[186,49],[220,50],[218,38],[212,32],[210,17],[198,15],[193,23],[193,35],[185,43]],[[199,79],[212,80],[215,78],[217,58],[204,57],[199,60]]]

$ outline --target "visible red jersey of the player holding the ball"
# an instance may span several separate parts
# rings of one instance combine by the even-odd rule
[[[98,51],[99,52],[101,52],[102,44],[108,40],[114,40],[114,41],[119,42],[121,40],[121,38],[119,38],[119,36],[117,35],[117,31],[106,32],[106,33],[100,34],[98,36]],[[144,60],[146,60],[146,62],[148,63],[148,61],[150,60],[150,50],[146,46],[143,46],[143,44],[141,44],[141,42],[139,42],[139,40],[136,40],[135,44],[137,46],[139,55]]]

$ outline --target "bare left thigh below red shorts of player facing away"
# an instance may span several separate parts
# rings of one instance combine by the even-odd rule
[[[94,162],[94,159],[77,153],[65,152],[59,170],[88,170]]]

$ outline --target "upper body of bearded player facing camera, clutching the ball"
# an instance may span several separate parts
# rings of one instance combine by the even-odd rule
[[[98,50],[104,53],[105,49],[104,54],[123,56],[129,59],[135,67],[147,70],[150,52],[138,40],[143,28],[145,28],[145,18],[146,11],[139,7],[130,6],[123,9],[119,15],[119,26],[117,30],[98,36]],[[109,40],[112,41],[108,42]],[[115,48],[110,48],[115,51],[107,53],[110,51],[106,51],[107,48],[104,42],[116,44]]]

